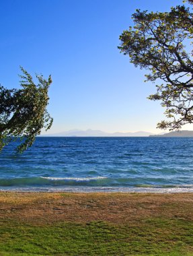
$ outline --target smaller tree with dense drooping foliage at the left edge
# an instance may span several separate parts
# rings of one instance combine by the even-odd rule
[[[22,67],[20,75],[21,89],[8,90],[0,86],[0,151],[9,142],[20,139],[18,152],[32,146],[36,135],[42,128],[50,129],[52,118],[46,110],[48,105],[48,88],[52,83],[51,76],[44,79],[36,75],[38,84]]]

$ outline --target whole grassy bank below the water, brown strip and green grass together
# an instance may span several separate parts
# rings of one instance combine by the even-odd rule
[[[193,255],[192,199],[0,193],[0,255]]]

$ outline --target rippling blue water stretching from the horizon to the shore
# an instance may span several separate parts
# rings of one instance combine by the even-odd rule
[[[13,148],[0,154],[3,190],[193,191],[193,138],[38,137],[24,154]]]

